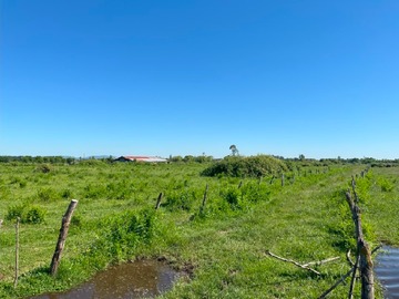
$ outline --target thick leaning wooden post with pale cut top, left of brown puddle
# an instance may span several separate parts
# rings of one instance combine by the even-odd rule
[[[70,205],[68,206],[65,215],[62,217],[60,236],[59,236],[59,239],[58,239],[58,243],[55,246],[55,250],[54,250],[54,255],[53,255],[53,258],[51,260],[51,266],[50,266],[50,274],[52,276],[57,275],[57,270],[60,265],[61,254],[65,246],[69,225],[71,223],[72,214],[73,214],[73,210],[75,209],[76,205],[78,205],[78,200],[72,199]]]

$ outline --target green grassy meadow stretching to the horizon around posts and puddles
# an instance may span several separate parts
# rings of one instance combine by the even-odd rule
[[[145,257],[190,272],[162,298],[317,298],[350,269],[346,252],[356,247],[345,190],[352,176],[371,248],[399,246],[399,167],[371,167],[362,177],[365,164],[290,162],[283,186],[280,173],[201,175],[211,164],[0,163],[0,297],[65,290],[111,264]],[[79,204],[52,278],[48,271],[72,198]],[[340,259],[315,266],[317,276],[267,250],[304,264]],[[329,298],[347,292],[341,285]],[[376,297],[382,298],[379,287]]]

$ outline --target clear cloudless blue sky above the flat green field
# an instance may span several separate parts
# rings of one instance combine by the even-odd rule
[[[397,0],[0,10],[0,155],[399,158]]]

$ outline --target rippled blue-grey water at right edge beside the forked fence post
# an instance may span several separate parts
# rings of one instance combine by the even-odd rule
[[[399,248],[382,247],[376,258],[375,274],[385,289],[383,298],[399,298]]]

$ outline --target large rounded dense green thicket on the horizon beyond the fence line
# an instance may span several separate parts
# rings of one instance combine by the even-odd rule
[[[268,155],[227,156],[202,172],[204,176],[262,177],[287,171],[287,165]]]

